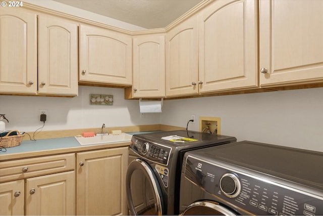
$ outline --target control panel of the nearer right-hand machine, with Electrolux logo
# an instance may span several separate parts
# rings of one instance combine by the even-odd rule
[[[188,156],[185,178],[209,194],[225,200],[232,208],[242,208],[256,215],[323,215],[323,195],[291,188]],[[322,194],[322,193],[319,193]]]

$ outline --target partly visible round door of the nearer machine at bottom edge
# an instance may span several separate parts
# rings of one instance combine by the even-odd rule
[[[205,200],[190,204],[181,215],[236,215],[236,213],[218,202]]]

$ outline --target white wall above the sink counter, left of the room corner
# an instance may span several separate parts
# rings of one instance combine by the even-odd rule
[[[90,105],[90,94],[113,95],[113,105]],[[139,101],[125,100],[124,90],[102,87],[79,87],[79,96],[33,97],[0,96],[0,114],[6,114],[6,129],[33,132],[43,125],[39,109],[47,109],[42,131],[159,124],[160,113],[146,113],[140,118]]]

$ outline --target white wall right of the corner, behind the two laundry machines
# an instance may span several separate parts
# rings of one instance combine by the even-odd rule
[[[221,117],[222,134],[238,141],[323,152],[323,88],[167,100],[160,123],[186,127],[191,114]]]

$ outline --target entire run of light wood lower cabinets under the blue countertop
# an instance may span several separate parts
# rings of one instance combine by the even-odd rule
[[[0,215],[127,215],[127,166],[128,147],[2,161]]]

